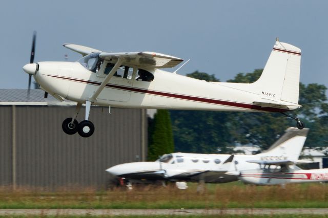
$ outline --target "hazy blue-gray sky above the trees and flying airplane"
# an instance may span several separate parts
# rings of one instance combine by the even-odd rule
[[[0,88],[27,88],[35,61],[80,55],[63,43],[107,52],[154,51],[191,59],[221,81],[263,68],[275,38],[301,48],[301,81],[328,86],[328,1],[16,1],[0,2]],[[168,69],[174,71],[174,69]]]

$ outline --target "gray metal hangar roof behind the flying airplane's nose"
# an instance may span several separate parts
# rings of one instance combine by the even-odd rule
[[[60,102],[52,95],[44,98],[44,91],[31,89],[27,97],[26,89],[0,89],[0,105],[74,105],[73,102]]]

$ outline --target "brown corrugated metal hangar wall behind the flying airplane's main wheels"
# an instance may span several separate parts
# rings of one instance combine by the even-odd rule
[[[0,106],[0,185],[14,181],[17,186],[47,188],[75,184],[105,187],[110,179],[105,169],[145,157],[141,147],[141,125],[147,125],[141,120],[146,116],[145,110],[112,108],[109,114],[108,108],[91,107],[89,120],[94,123],[95,132],[83,138],[78,134],[66,135],[61,129],[61,123],[73,115],[74,109]],[[84,114],[82,108],[77,120],[84,120]]]

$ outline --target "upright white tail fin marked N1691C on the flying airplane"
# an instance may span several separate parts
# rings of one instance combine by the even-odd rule
[[[298,104],[300,65],[301,50],[277,40],[261,77],[250,88],[263,99]]]

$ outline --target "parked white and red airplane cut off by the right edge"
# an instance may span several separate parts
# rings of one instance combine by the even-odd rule
[[[295,164],[309,163],[302,160],[248,161],[260,165],[259,169],[241,170],[238,179],[255,185],[280,185],[288,183],[327,182],[328,168],[300,169]]]

